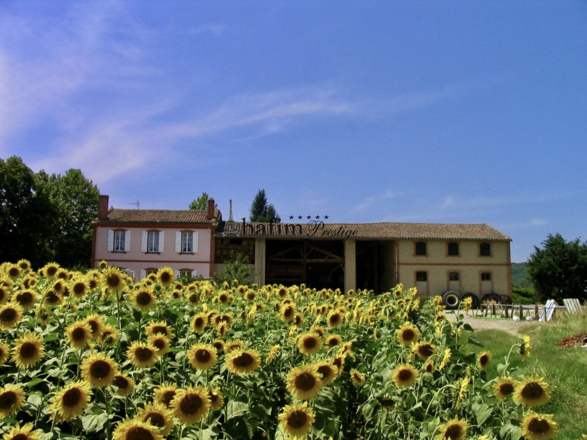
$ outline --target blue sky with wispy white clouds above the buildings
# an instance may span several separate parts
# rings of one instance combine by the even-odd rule
[[[587,3],[0,2],[0,157],[111,204],[585,233]]]

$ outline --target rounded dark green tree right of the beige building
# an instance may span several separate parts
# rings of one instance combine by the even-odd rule
[[[528,278],[542,301],[587,298],[587,242],[565,241],[549,234],[542,248],[534,246],[528,260]]]

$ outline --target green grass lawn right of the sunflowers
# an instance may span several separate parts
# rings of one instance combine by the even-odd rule
[[[554,414],[558,422],[557,439],[576,440],[587,434],[587,350],[583,348],[561,348],[556,343],[565,337],[587,333],[587,314],[582,317],[561,317],[549,323],[536,323],[526,332],[532,338],[531,356],[522,362],[512,355],[510,364],[518,366],[514,377],[537,373],[544,376],[551,386],[551,402],[537,408],[538,412]],[[468,332],[463,332],[467,334]],[[518,339],[500,330],[475,332],[475,337],[484,347],[467,345],[463,350],[478,353],[490,350],[493,361],[487,368],[487,377],[497,377],[497,364],[504,363],[512,344]]]

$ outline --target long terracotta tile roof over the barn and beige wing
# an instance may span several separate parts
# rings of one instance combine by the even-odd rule
[[[225,222],[221,222],[218,233],[222,232]],[[265,236],[308,236],[311,235],[313,239],[328,238],[322,235],[323,231],[357,231],[353,238],[358,239],[444,239],[444,240],[497,240],[497,241],[511,241],[511,238],[504,233],[498,231],[492,226],[481,224],[444,224],[444,223],[357,223],[357,224],[324,224],[323,229],[317,232],[313,231],[315,226],[311,224],[288,224],[289,226],[296,225],[295,233],[285,233],[284,225],[281,224],[282,231],[279,232],[276,224],[273,225],[273,233],[269,233],[268,223],[247,223],[252,225],[254,231],[257,231],[257,225],[265,225]],[[297,225],[301,225],[302,233],[299,233]],[[259,236],[262,234],[250,233],[250,228],[247,228],[247,233],[244,234],[242,229],[242,222],[236,224],[238,233],[241,236]],[[312,235],[312,232],[313,235]],[[340,236],[340,235],[339,235]],[[332,238],[332,237],[331,237]]]

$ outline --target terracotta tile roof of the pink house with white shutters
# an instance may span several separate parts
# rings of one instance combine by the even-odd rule
[[[194,209],[119,209],[111,208],[108,211],[107,220],[95,219],[95,223],[120,222],[120,223],[205,223],[211,224],[207,218],[208,211],[195,211]],[[218,209],[215,209],[218,215]]]

